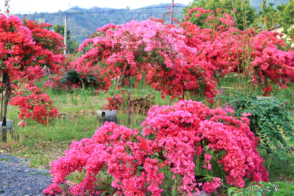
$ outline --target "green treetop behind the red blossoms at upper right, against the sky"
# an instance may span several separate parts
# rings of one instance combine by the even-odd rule
[[[245,2],[245,3],[244,3]],[[242,4],[243,3],[243,7]],[[207,10],[213,10],[216,12],[218,8],[221,8],[221,10],[225,13],[228,13],[229,15],[233,16],[232,10],[233,10],[233,4],[230,0],[194,0],[192,1],[187,8],[183,9],[184,16],[187,15],[188,9],[194,8],[194,7],[202,7],[203,9]],[[223,9],[224,8],[224,9]],[[249,25],[252,24],[256,20],[256,13],[255,9],[250,6],[249,1],[241,1],[241,0],[234,0],[234,9],[236,9],[236,19],[238,28],[240,30],[244,29],[243,26],[243,18],[245,18],[245,11],[246,11],[246,21],[249,22]],[[203,16],[200,17],[193,17],[192,19],[188,19],[188,21],[191,20],[193,24],[196,24],[201,29],[209,28],[206,23],[203,22]],[[219,22],[218,25],[220,25],[221,22]]]

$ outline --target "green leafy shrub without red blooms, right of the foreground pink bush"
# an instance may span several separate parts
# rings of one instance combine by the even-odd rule
[[[255,137],[260,137],[260,148],[271,152],[270,147],[277,146],[277,151],[288,152],[294,144],[294,114],[289,112],[293,105],[288,100],[258,99],[239,91],[233,91],[228,96],[223,93],[218,98],[227,102],[225,107],[233,105],[237,117],[241,117],[244,112],[252,114],[248,116],[249,126]]]

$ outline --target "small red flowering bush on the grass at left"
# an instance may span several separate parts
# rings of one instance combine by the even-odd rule
[[[52,105],[52,100],[46,93],[41,93],[37,87],[30,87],[28,90],[33,93],[27,96],[16,96],[9,102],[11,105],[18,106],[19,119],[32,117],[37,119],[38,123],[47,124],[49,117],[59,117],[57,108]]]

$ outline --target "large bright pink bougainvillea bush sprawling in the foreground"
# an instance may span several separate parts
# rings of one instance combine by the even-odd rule
[[[92,138],[74,141],[65,156],[51,163],[53,184],[44,190],[47,194],[61,192],[59,184],[74,171],[86,171],[80,183],[70,188],[76,195],[86,190],[101,194],[96,189],[96,175],[106,170],[113,176],[112,187],[118,193],[161,195],[159,188],[166,168],[181,177],[179,190],[182,194],[197,191],[197,185],[206,192],[220,187],[220,178],[211,182],[196,183],[196,155],[203,155],[203,167],[211,170],[211,162],[223,167],[226,182],[244,187],[244,178],[251,181],[268,181],[263,159],[257,150],[257,140],[248,127],[250,113],[237,118],[227,115],[222,108],[210,109],[201,102],[180,101],[174,106],[152,106],[143,130],[131,130],[115,123],[105,123]]]

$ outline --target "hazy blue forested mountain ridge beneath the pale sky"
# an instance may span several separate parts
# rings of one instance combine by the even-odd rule
[[[166,23],[170,23],[171,16],[168,15],[170,12],[168,6],[171,6],[171,4],[152,5],[135,10],[130,10],[129,7],[125,9],[100,7],[84,9],[74,6],[66,11],[59,10],[56,13],[35,12],[34,14],[16,15],[20,18],[25,17],[27,20],[34,19],[39,23],[48,22],[53,26],[55,24],[64,24],[64,16],[66,16],[67,29],[71,31],[71,39],[77,39],[79,43],[82,43],[83,40],[88,38],[91,33],[95,32],[98,27],[102,27],[108,23],[118,25],[131,20],[146,20],[150,18],[150,16],[159,19],[163,18]],[[177,4],[174,7],[174,16],[176,19],[181,19],[183,17],[183,7],[183,4]]]

